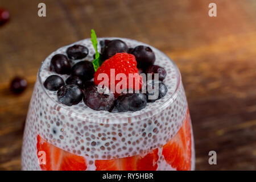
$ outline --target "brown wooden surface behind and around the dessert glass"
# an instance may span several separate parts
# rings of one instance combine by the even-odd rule
[[[38,3],[47,17],[37,15]],[[208,16],[210,2],[217,17]],[[256,169],[256,1],[0,1],[0,169],[20,169],[23,122],[41,61],[66,44],[119,36],[151,44],[178,65],[191,111],[196,169]],[[28,80],[20,96],[12,77]],[[208,152],[217,152],[217,165]]]

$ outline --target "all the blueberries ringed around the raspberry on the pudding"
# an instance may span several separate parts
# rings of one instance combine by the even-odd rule
[[[150,99],[154,92],[147,93],[123,93],[115,96],[108,88],[101,88],[91,81],[94,77],[94,67],[91,61],[83,60],[72,65],[72,60],[85,59],[88,48],[74,45],[67,49],[66,55],[57,54],[52,57],[50,70],[60,75],[70,75],[63,80],[59,75],[51,75],[44,82],[48,90],[57,91],[57,98],[62,104],[72,106],[84,103],[94,110],[108,110],[111,112],[138,111],[146,107],[147,102],[155,102],[164,97],[167,87],[163,84],[166,77],[164,68],[154,65],[155,53],[150,47],[137,46],[129,48],[125,42],[119,39],[101,40],[100,59],[103,63],[116,53],[127,52],[135,56],[137,67],[144,73],[152,74],[152,80],[147,81],[147,88],[154,90],[158,82],[158,98]],[[155,80],[154,74],[159,74],[159,80]],[[100,90],[99,90],[100,89]]]

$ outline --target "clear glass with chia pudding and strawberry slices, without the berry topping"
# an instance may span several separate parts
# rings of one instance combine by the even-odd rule
[[[98,40],[103,39],[117,38]],[[122,40],[129,47],[148,46]],[[86,60],[93,60],[90,39],[75,44],[88,47]],[[56,92],[44,88],[46,77],[56,75],[49,71],[49,60],[56,53],[65,54],[67,47],[49,55],[39,69],[24,129],[23,170],[195,169],[187,99],[179,69],[168,56],[150,46],[155,64],[167,71],[163,81],[168,88],[166,96],[140,111],[109,113],[92,110],[83,101],[65,106],[56,100]]]

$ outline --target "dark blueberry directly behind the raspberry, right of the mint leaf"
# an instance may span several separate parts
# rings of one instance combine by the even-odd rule
[[[109,57],[114,56],[116,53],[119,52],[127,52],[128,46],[125,42],[119,39],[111,40],[106,44],[102,54],[104,55],[104,59],[109,59]]]

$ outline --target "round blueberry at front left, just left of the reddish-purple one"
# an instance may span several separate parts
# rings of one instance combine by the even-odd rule
[[[76,105],[82,100],[82,90],[77,85],[65,85],[58,90],[57,97],[62,104]]]

